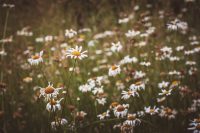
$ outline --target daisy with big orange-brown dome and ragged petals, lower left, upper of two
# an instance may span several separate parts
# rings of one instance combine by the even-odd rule
[[[60,89],[61,88],[54,88],[53,84],[49,82],[47,87],[45,88],[40,87],[40,97],[43,96],[46,101],[49,101],[51,98],[57,97]]]

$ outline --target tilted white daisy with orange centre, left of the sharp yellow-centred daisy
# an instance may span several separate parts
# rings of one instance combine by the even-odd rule
[[[28,62],[31,65],[38,65],[40,62],[43,62],[42,55],[43,51],[40,51],[40,53],[36,53],[35,55],[31,56],[31,58],[28,59]]]

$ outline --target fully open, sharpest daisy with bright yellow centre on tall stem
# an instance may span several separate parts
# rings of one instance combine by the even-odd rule
[[[66,56],[67,57],[71,57],[71,58],[74,58],[74,59],[83,59],[85,57],[87,57],[87,55],[85,53],[87,53],[87,51],[82,51],[82,46],[78,47],[76,46],[75,48],[69,48],[67,51],[66,51]]]

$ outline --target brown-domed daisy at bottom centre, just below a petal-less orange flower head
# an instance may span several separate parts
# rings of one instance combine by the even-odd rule
[[[119,104],[114,108],[114,115],[119,118],[119,117],[125,117],[127,112],[128,112],[128,107],[129,104]]]

